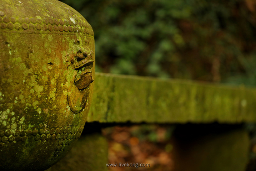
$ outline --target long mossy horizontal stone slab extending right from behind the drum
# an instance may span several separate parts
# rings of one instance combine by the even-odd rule
[[[242,123],[256,121],[256,89],[97,73],[87,121]]]

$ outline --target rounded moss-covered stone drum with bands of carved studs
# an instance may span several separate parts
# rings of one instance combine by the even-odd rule
[[[45,170],[79,138],[92,98],[94,33],[57,0],[0,2],[0,170]]]

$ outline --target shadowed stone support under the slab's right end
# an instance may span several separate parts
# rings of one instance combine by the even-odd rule
[[[232,125],[217,127],[180,126],[174,134],[175,171],[245,171],[250,144],[247,131]]]

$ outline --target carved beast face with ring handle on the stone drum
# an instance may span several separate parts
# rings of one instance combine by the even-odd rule
[[[74,113],[82,112],[87,105],[89,86],[94,81],[92,78],[93,55],[93,51],[88,46],[80,46],[79,40],[73,46],[72,53],[67,55],[67,66],[73,69],[67,100]]]

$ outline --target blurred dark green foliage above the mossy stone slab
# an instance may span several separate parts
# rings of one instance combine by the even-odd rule
[[[96,71],[256,86],[253,0],[62,0],[95,33]]]

